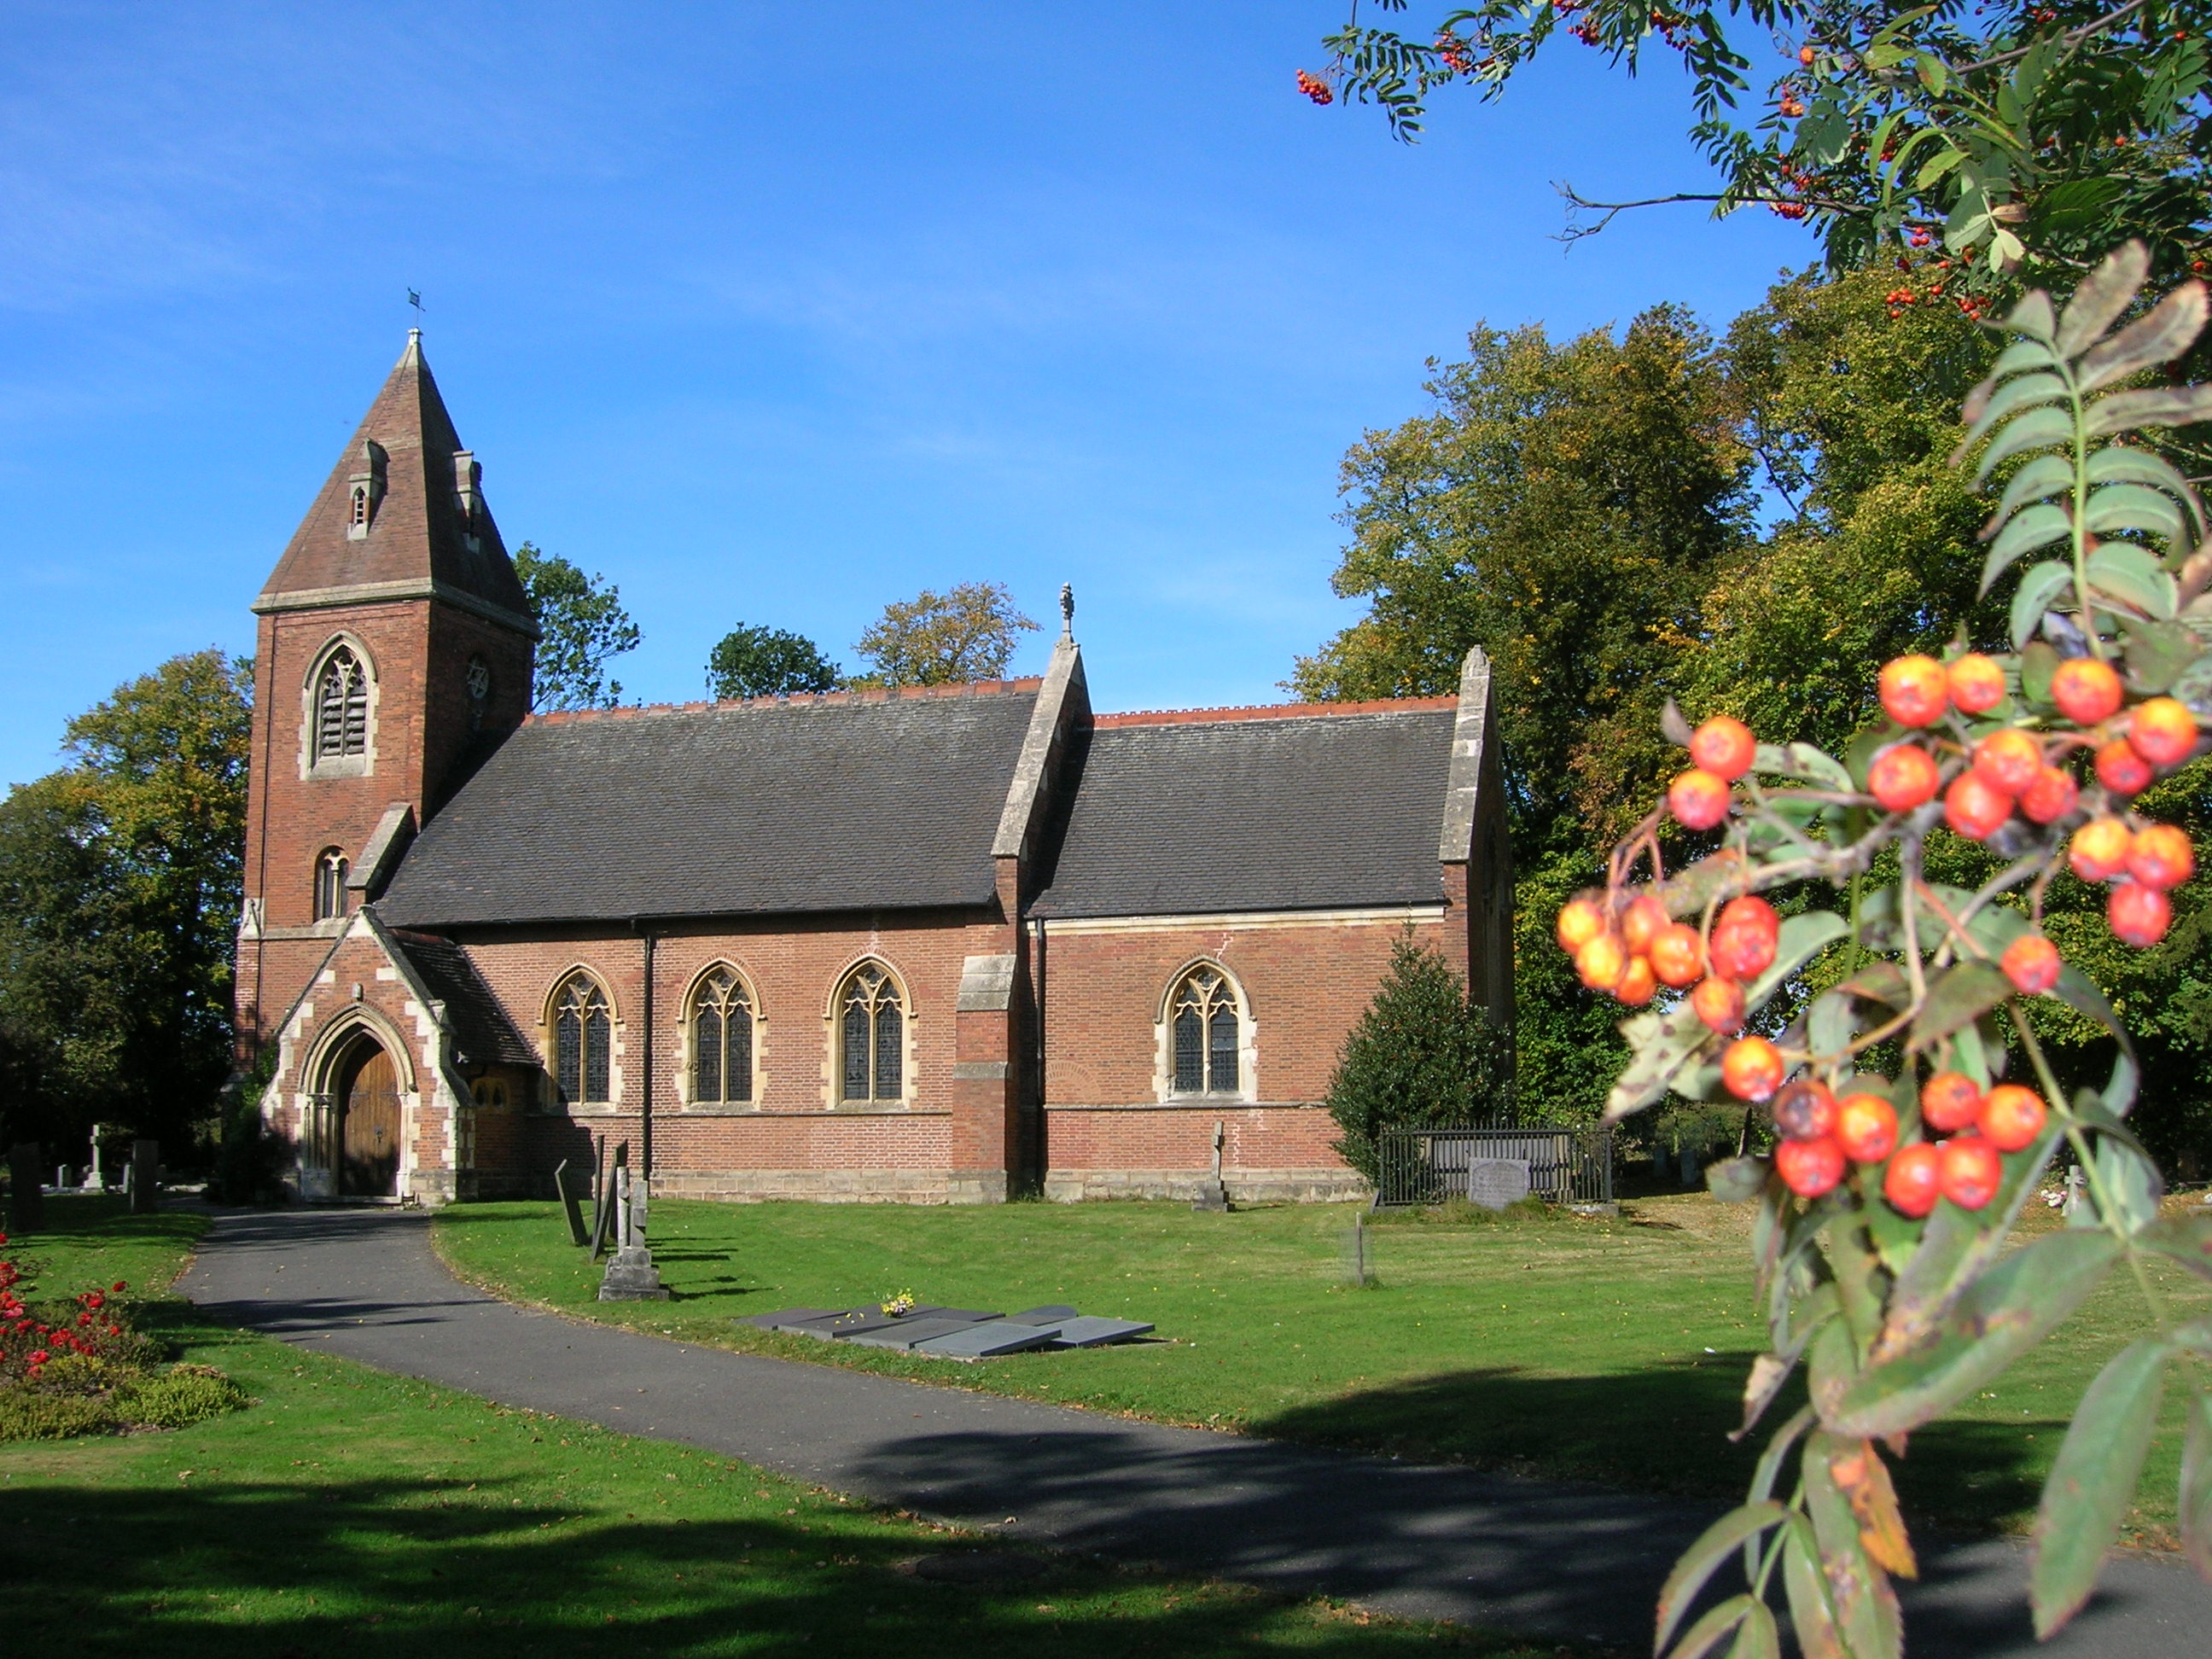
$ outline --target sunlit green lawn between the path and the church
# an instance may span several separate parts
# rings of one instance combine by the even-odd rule
[[[670,1201],[655,1206],[653,1228],[677,1298],[628,1305],[593,1301],[597,1270],[568,1245],[555,1206],[456,1206],[436,1237],[460,1272],[502,1294],[690,1343],[1164,1422],[1725,1495],[1756,1455],[1756,1442],[1725,1438],[1759,1343],[1745,1223],[1743,1208],[1701,1194],[1637,1201],[1619,1221],[1387,1217],[1369,1230],[1383,1283],[1360,1290],[1345,1283],[1352,1210],[1340,1206],[1199,1214],[1175,1203]],[[2177,1307],[2212,1305],[2179,1270],[2159,1279]],[[953,1307],[1075,1303],[1152,1321],[1166,1340],[953,1365],[734,1323],[909,1287]],[[1900,1467],[1907,1504],[1947,1526],[2024,1526],[2075,1400],[2139,1321],[2139,1292],[2117,1274],[2062,1340],[1958,1420],[1913,1436]],[[2150,1540],[2174,1517],[2179,1422],[2170,1391],[2135,1515]]]

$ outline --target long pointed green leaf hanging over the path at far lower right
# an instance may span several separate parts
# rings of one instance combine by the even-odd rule
[[[2128,1343],[2075,1407],[2035,1513],[2028,1601],[2035,1608],[2035,1635],[2044,1641],[2088,1601],[2106,1551],[2119,1540],[2119,1522],[2159,1425],[2166,1360],[2166,1340],[2159,1336]]]

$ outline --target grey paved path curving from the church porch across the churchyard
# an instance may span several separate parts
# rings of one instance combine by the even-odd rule
[[[226,1214],[181,1287],[285,1343],[1011,1537],[1639,1652],[1666,1568],[1712,1513],[681,1347],[471,1290],[409,1212]],[[2051,1646],[2028,1635],[2015,1544],[1924,1542],[1922,1566],[1913,1659],[2212,1655],[2212,1588],[2179,1566],[2115,1559]]]

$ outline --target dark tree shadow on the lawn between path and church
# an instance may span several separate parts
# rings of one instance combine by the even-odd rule
[[[1750,1484],[1767,1433],[1805,1402],[1801,1374],[1759,1429],[1732,1444],[1750,1365],[1750,1354],[1703,1354],[1617,1376],[1449,1371],[1301,1405],[1250,1429],[1601,1486],[1734,1498]],[[2064,1429],[2026,1420],[1931,1425],[1893,1462],[1898,1493],[1911,1515],[1942,1526],[2017,1524],[2035,1511],[2044,1478],[2026,1433],[2057,1444]]]

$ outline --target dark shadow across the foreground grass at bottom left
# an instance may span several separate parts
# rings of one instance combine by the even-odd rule
[[[916,1573],[918,1557],[971,1582]],[[918,1542],[911,1526],[863,1515],[814,1531],[577,1520],[500,1482],[0,1489],[0,1571],[22,1652],[1033,1655],[1048,1644],[1119,1659],[1133,1639],[1161,1655],[1287,1639],[1352,1659],[1436,1646],[1429,1628],[1316,1621],[1250,1590],[1057,1557],[1018,1566],[993,1573],[971,1537]]]

